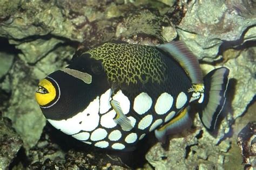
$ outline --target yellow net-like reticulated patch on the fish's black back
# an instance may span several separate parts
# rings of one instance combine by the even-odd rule
[[[112,82],[141,83],[164,81],[166,65],[162,54],[151,46],[106,43],[86,53],[102,60],[107,77]]]

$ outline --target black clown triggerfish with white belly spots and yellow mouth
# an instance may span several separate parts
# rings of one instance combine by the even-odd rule
[[[226,102],[230,70],[205,77],[183,41],[157,46],[107,42],[79,50],[70,65],[39,81],[35,98],[56,129],[85,144],[132,151],[154,131],[166,136],[189,128],[191,103],[208,131]]]

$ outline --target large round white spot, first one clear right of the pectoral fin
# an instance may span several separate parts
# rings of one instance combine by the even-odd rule
[[[151,108],[152,105],[152,99],[149,95],[146,93],[140,93],[137,97],[134,99],[133,103],[133,109],[139,114],[143,115],[147,110]]]

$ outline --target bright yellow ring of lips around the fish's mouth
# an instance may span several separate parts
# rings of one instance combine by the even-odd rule
[[[38,89],[35,96],[37,103],[43,106],[49,104],[55,99],[56,89],[49,80],[43,79],[38,84]]]

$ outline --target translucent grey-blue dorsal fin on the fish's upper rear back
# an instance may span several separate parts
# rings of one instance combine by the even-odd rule
[[[190,76],[193,84],[203,83],[203,74],[199,66],[197,57],[186,47],[183,41],[172,41],[167,44],[161,44],[158,48],[171,54],[173,58],[180,63]]]

